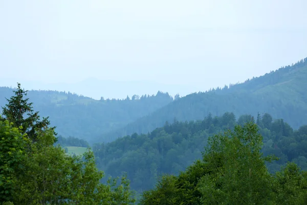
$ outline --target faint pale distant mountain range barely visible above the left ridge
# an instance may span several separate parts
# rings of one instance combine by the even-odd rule
[[[99,80],[97,78],[88,78],[75,83],[44,83],[42,81],[23,80],[15,78],[1,78],[0,86],[16,87],[16,82],[23,85],[27,90],[56,90],[76,93],[79,95],[100,99],[100,97],[125,99],[128,96],[156,94],[158,91],[168,92],[174,96],[179,93],[181,96],[193,93],[195,91],[205,90],[201,86],[181,84],[162,84],[155,81],[135,80],[135,81],[116,81]]]

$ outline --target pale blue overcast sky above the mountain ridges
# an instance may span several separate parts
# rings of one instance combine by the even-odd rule
[[[94,98],[224,87],[307,57],[306,8],[305,0],[0,0],[0,86]]]

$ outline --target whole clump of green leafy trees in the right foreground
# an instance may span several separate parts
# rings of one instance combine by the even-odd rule
[[[253,122],[209,138],[203,159],[179,176],[164,175],[140,204],[306,204],[307,173],[295,163],[270,174]]]

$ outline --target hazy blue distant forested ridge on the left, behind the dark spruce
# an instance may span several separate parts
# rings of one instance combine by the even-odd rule
[[[13,89],[0,87],[0,106],[5,106]],[[167,104],[168,93],[134,95],[131,99],[94,100],[70,92],[29,91],[27,97],[41,116],[49,116],[56,131],[64,137],[74,136],[93,142],[93,138],[127,125]],[[97,137],[96,137],[97,138]]]

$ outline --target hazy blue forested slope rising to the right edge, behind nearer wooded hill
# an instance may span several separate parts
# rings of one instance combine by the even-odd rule
[[[233,112],[235,115],[249,113],[253,116],[257,112],[267,112],[274,118],[283,118],[297,129],[307,124],[306,79],[307,58],[295,65],[248,79],[242,84],[193,93],[174,100],[122,129],[102,135],[101,141],[106,136],[116,138],[135,132],[147,133],[174,118],[179,121],[203,119],[209,112],[212,115]]]

